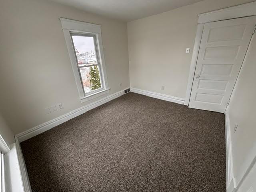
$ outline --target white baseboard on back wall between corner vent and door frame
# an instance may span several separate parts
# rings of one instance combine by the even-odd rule
[[[146,90],[140,90],[140,89],[132,88],[132,87],[130,88],[130,91],[134,92],[134,93],[146,95],[149,97],[165,100],[165,101],[170,101],[170,102],[174,102],[174,103],[178,103],[178,104],[182,104],[182,105],[184,104],[184,98],[174,97],[174,96],[151,92],[151,91],[146,91]]]

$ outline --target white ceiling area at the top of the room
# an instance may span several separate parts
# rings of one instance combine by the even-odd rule
[[[202,0],[52,0],[87,12],[131,21]]]

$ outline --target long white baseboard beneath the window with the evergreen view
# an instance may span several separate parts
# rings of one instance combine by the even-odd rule
[[[45,132],[45,131],[47,131],[47,130],[49,130],[49,129],[51,129],[51,128],[59,125],[59,124],[62,124],[62,123],[66,122],[66,121],[68,121],[68,120],[70,120],[70,119],[72,119],[76,116],[79,116],[79,115],[85,113],[88,110],[96,108],[96,107],[98,107],[98,106],[100,106],[100,105],[102,105],[106,102],[109,102],[109,101],[111,101],[115,98],[118,98],[118,97],[122,96],[123,94],[124,94],[124,90],[118,91],[118,92],[116,92],[114,94],[111,94],[111,95],[109,95],[105,98],[102,98],[102,99],[100,99],[96,102],[90,103],[86,106],[82,106],[78,109],[75,109],[71,112],[68,112],[67,114],[59,116],[59,117],[57,117],[53,120],[50,120],[48,122],[45,122],[43,124],[40,124],[40,125],[35,126],[33,128],[30,128],[29,130],[26,130],[26,131],[16,135],[17,138],[18,138],[18,141],[22,142],[24,140],[32,138],[32,137],[34,137],[34,136],[36,136],[36,135],[38,135],[42,132]]]

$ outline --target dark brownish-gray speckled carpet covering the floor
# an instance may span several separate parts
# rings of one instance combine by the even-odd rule
[[[21,143],[33,192],[225,192],[224,114],[128,93]]]

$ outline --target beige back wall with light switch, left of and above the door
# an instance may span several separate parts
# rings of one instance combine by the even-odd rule
[[[128,22],[130,86],[185,98],[197,15],[251,1],[206,0]]]

